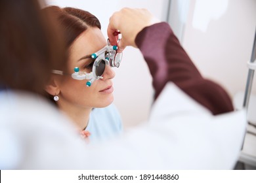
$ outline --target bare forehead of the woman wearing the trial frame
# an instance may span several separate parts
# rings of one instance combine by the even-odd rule
[[[106,39],[100,29],[89,27],[70,46],[69,56],[72,60],[78,60],[83,56],[93,54],[104,46],[106,46]]]

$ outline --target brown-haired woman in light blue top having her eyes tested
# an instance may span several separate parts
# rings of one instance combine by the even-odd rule
[[[85,80],[72,78],[74,68],[77,67],[80,72],[91,73],[95,62],[91,54],[107,44],[100,31],[100,22],[93,14],[77,8],[53,6],[44,11],[58,19],[69,48],[68,71],[64,71],[64,75],[56,75],[59,71],[55,71],[46,91],[80,131],[89,131],[90,139],[104,140],[120,133],[121,118],[112,104],[112,78],[115,73],[110,65],[106,65],[102,78],[90,83],[89,87],[85,86]],[[88,133],[85,132],[85,136]]]

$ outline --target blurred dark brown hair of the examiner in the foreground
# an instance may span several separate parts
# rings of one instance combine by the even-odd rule
[[[66,46],[38,1],[0,1],[0,84],[43,93],[51,69],[64,69]]]

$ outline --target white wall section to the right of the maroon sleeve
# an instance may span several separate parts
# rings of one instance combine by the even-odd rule
[[[255,0],[190,0],[182,44],[201,73],[234,97],[245,90],[255,28]]]

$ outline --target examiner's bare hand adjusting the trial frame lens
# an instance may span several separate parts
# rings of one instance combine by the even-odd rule
[[[110,17],[108,24],[108,38],[110,44],[117,45],[117,52],[122,52],[126,46],[133,46],[137,34],[144,28],[160,22],[146,9],[123,8]],[[119,42],[116,32],[120,32],[122,37]]]

